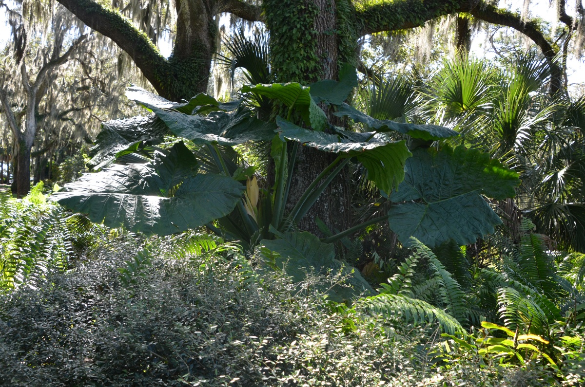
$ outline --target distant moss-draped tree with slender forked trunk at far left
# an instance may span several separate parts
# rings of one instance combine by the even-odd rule
[[[118,77],[117,47],[84,33],[63,6],[26,1],[0,6],[12,38],[0,66],[0,110],[10,133],[2,145],[14,164],[12,191],[22,197],[30,189],[31,158],[35,180],[46,178],[47,154],[59,156],[64,147],[73,153],[91,141],[101,120],[125,110],[119,97],[127,84]]]

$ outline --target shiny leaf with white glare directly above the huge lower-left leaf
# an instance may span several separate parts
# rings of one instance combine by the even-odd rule
[[[126,150],[130,144],[139,141],[157,144],[167,133],[166,125],[155,115],[104,122],[95,139],[95,146],[90,149],[88,166],[93,170],[103,168],[116,160],[116,154]]]

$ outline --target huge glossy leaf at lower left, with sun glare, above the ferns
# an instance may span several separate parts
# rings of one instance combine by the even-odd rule
[[[92,222],[149,235],[177,233],[228,215],[245,187],[223,175],[197,174],[196,161],[186,152],[179,143],[153,163],[85,174],[51,200]]]

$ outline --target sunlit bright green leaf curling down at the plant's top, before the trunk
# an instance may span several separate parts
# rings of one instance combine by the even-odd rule
[[[307,125],[315,130],[324,130],[327,124],[325,113],[311,98],[310,88],[297,82],[286,84],[258,84],[256,86],[244,86],[242,92],[252,92],[256,95],[267,96],[283,102],[289,109],[294,108],[301,113]]]

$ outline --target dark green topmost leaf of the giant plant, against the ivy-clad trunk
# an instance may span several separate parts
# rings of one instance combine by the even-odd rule
[[[333,105],[341,105],[357,87],[356,68],[350,64],[344,64],[339,71],[339,81],[321,80],[310,86],[311,96],[315,102],[325,101]]]

